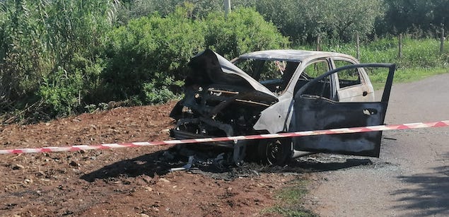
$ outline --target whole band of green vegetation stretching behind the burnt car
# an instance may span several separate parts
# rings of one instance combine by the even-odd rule
[[[51,119],[110,106],[161,103],[180,93],[185,64],[210,47],[231,59],[306,47],[402,69],[448,67],[449,0],[3,0],[0,114]],[[397,58],[397,35],[407,35]],[[419,39],[419,40],[418,40]],[[112,103],[113,104],[113,103]]]

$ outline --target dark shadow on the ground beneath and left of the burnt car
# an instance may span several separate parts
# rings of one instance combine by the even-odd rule
[[[170,152],[170,150],[157,151],[137,158],[122,160],[85,174],[81,176],[81,179],[93,182],[95,180],[109,180],[117,177],[137,177],[139,175],[155,177],[156,175],[165,175],[172,168],[182,168],[188,161],[187,157],[173,156],[172,153],[173,152]],[[342,170],[371,164],[372,162],[369,159],[335,159],[318,154],[318,156],[315,155],[313,158],[299,158],[298,160],[292,160],[291,163],[284,167],[262,165],[259,163],[245,163],[241,167],[235,165],[217,166],[215,164],[206,164],[202,162],[195,163],[190,172],[207,175],[215,179],[233,180],[237,177],[259,175],[260,172],[300,174],[305,172]]]

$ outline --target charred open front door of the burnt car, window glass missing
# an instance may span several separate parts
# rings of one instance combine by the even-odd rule
[[[310,95],[318,81],[346,69],[361,67],[389,70],[380,102],[335,102],[320,95]],[[385,120],[395,73],[395,64],[354,64],[328,71],[301,87],[294,96],[289,131],[309,131],[381,125]],[[300,136],[293,138],[297,151],[341,153],[354,156],[379,157],[382,131],[354,134]]]

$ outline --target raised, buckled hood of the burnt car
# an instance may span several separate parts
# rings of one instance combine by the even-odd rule
[[[264,95],[277,99],[272,91],[211,49],[206,49],[192,57],[188,66],[191,71],[185,79],[185,86],[194,84],[199,86],[210,84],[239,86],[240,88],[257,90]]]

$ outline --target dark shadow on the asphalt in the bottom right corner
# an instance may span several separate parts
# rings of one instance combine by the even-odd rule
[[[447,160],[447,153],[442,160]],[[399,209],[418,209],[416,216],[449,215],[449,166],[433,168],[434,172],[398,177],[413,187],[400,189],[394,195],[400,195],[400,201],[409,205]]]

